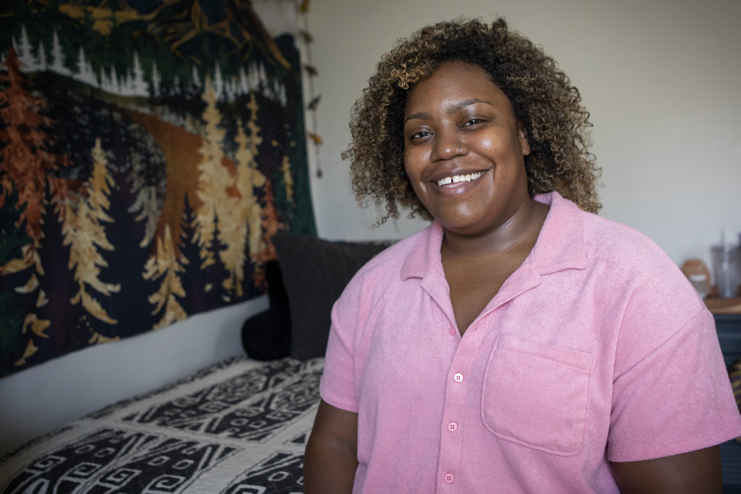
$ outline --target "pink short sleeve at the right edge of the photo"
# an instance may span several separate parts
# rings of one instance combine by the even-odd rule
[[[688,453],[741,435],[713,316],[692,295],[686,304],[662,304],[639,288],[628,301],[615,356],[610,461]]]

